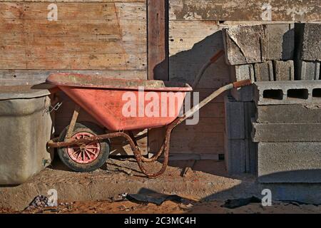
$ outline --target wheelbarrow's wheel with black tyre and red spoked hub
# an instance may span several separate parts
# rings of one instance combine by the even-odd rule
[[[60,141],[65,141],[68,126],[62,131]],[[76,123],[71,134],[72,139],[91,138],[102,135],[103,129],[93,123]],[[58,148],[61,161],[76,172],[92,172],[98,170],[109,156],[109,140],[88,142],[86,145],[71,145]]]

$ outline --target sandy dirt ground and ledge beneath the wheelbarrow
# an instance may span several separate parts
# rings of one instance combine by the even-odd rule
[[[183,168],[192,165],[193,169],[183,175]],[[150,168],[160,167],[161,164],[156,163]],[[34,197],[46,195],[53,188],[58,191],[58,207],[24,209]],[[309,185],[308,189],[312,187]],[[321,206],[274,199],[271,207],[263,207],[260,203],[235,209],[223,207],[228,199],[262,195],[253,175],[230,177],[224,169],[224,162],[210,160],[171,162],[158,179],[143,177],[132,158],[110,159],[106,167],[90,173],[71,172],[56,161],[29,182],[16,187],[1,187],[0,190],[0,213],[321,213]],[[115,200],[125,193],[144,195],[146,191],[147,194],[178,195],[182,200],[165,201],[161,205],[123,198]]]

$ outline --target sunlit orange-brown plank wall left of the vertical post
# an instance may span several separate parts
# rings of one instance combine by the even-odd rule
[[[56,21],[47,20],[51,3],[58,9]],[[44,80],[67,71],[146,79],[146,17],[146,0],[0,1],[0,77]],[[73,108],[66,95],[61,98],[56,133]],[[126,152],[122,143],[113,143],[113,152]],[[140,144],[146,151],[146,136]]]

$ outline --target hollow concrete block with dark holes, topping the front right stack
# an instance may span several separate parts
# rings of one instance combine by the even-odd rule
[[[262,81],[254,83],[257,105],[321,103],[321,81]]]

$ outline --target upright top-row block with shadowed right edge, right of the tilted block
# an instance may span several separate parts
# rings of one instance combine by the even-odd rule
[[[295,51],[294,24],[265,24],[267,60],[290,60]]]

